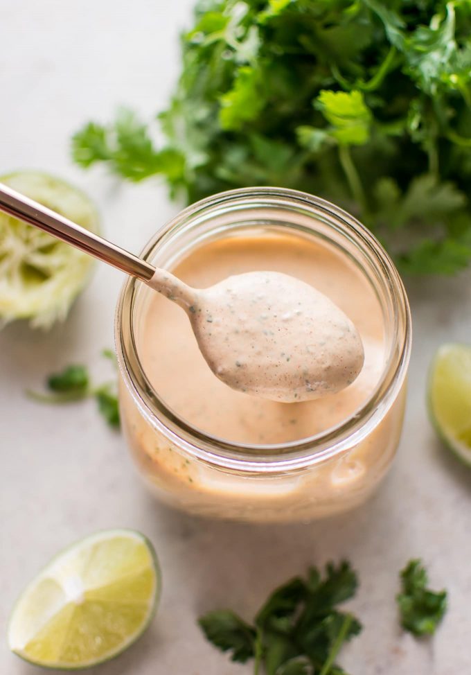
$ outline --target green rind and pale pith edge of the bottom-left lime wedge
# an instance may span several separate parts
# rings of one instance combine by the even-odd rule
[[[30,599],[30,595],[35,591],[37,585],[40,582],[44,581],[45,579],[53,580],[54,575],[57,573],[57,568],[61,567],[63,568],[64,563],[66,563],[68,559],[70,560],[76,558],[78,552],[80,552],[80,549],[82,549],[86,553],[87,548],[89,549],[91,546],[94,545],[94,543],[100,543],[105,541],[106,539],[113,539],[116,537],[136,539],[136,541],[139,541],[140,543],[145,545],[147,552],[150,554],[150,560],[152,561],[150,568],[154,572],[154,588],[153,593],[148,601],[148,613],[145,616],[144,620],[139,625],[139,629],[136,630],[134,633],[132,633],[132,635],[129,635],[127,640],[123,640],[123,642],[120,643],[119,647],[117,647],[112,651],[109,651],[107,654],[104,654],[101,658],[91,658],[88,661],[82,660],[80,664],[67,663],[64,660],[48,662],[44,660],[37,660],[31,658],[30,655],[28,655],[28,653],[25,651],[25,649],[19,648],[18,645],[19,640],[18,636],[15,635],[15,631],[18,631],[18,629],[21,628],[21,622],[25,618],[24,616],[21,616],[21,613],[24,613],[26,611],[28,607],[28,599]],[[87,589],[87,593],[90,592],[94,592],[94,588]],[[123,651],[125,651],[128,647],[133,645],[134,642],[136,642],[136,640],[139,640],[141,635],[145,633],[150,623],[152,622],[155,613],[157,612],[160,594],[161,594],[161,571],[159,561],[157,559],[157,554],[154,550],[152,543],[144,534],[141,534],[141,532],[136,532],[136,530],[132,529],[108,529],[96,532],[95,534],[87,536],[84,539],[81,539],[80,541],[75,542],[69,547],[66,547],[64,550],[60,551],[57,555],[53,557],[53,559],[51,559],[51,561],[49,561],[46,567],[44,567],[39,572],[39,574],[35,577],[35,579],[33,579],[33,581],[31,581],[30,584],[26,586],[23,593],[21,593],[21,595],[17,599],[12,614],[10,615],[10,622],[8,624],[8,645],[10,649],[15,654],[17,654],[17,656],[19,656],[26,662],[32,663],[33,665],[39,665],[41,667],[48,669],[83,670],[90,667],[94,667],[96,665],[100,665],[100,663],[105,663],[122,654]],[[46,618],[43,627],[50,620],[51,617]],[[25,645],[25,647],[28,647],[28,645]]]

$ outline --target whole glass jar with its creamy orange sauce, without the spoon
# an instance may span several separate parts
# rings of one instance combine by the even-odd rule
[[[143,258],[199,288],[249,270],[292,274],[344,310],[365,349],[362,373],[337,394],[247,396],[211,373],[183,310],[129,279],[116,313],[121,417],[152,491],[192,514],[254,522],[321,518],[366,500],[398,446],[411,346],[404,287],[368,230],[305,193],[242,189],[179,213]]]

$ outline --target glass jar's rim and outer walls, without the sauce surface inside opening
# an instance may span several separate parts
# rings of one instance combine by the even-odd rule
[[[150,384],[139,333],[152,291],[128,279],[116,312],[124,434],[152,491],[191,514],[260,522],[330,516],[366,500],[396,452],[411,347],[407,296],[391,259],[365,227],[335,205],[292,190],[241,189],[197,202],[158,231],[142,257],[174,268],[202,242],[254,228],[259,236],[265,229],[289,231],[328,243],[367,280],[381,308],[385,342],[383,371],[371,395],[337,426],[298,441],[247,445],[206,435],[168,409]]]

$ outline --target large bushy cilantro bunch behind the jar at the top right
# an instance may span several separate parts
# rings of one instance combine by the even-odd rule
[[[162,175],[188,201],[249,185],[344,205],[409,273],[471,258],[468,0],[199,0],[163,148],[129,110],[82,166]]]

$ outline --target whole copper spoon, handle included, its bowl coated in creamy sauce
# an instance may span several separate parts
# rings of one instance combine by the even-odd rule
[[[240,392],[308,401],[344,389],[362,369],[362,340],[348,317],[308,283],[247,272],[205,289],[128,253],[0,184],[0,211],[141,279],[183,308],[215,376]]]

